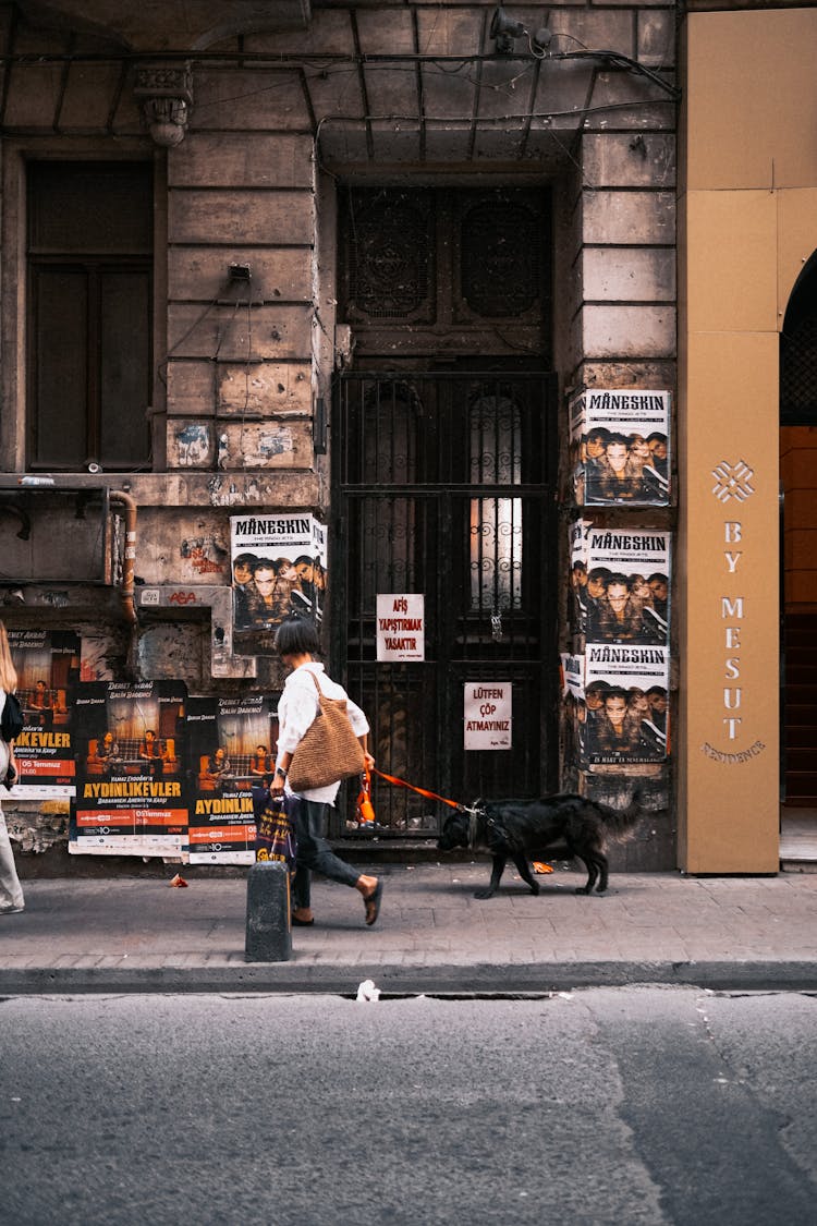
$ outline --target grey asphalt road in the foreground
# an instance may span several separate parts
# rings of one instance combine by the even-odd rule
[[[0,1000],[0,1221],[817,1220],[817,998]]]

